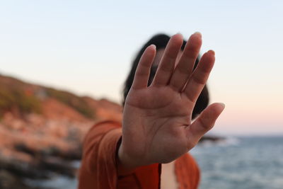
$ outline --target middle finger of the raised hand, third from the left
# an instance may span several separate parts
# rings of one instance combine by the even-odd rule
[[[187,44],[183,51],[182,56],[175,67],[173,75],[171,77],[170,85],[176,91],[182,91],[187,79],[192,74],[192,69],[195,65],[197,56],[200,53],[200,47],[202,46],[202,35],[200,33],[194,33],[187,40]]]

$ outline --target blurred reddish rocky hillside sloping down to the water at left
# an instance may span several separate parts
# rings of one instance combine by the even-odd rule
[[[0,75],[0,188],[31,188],[28,179],[75,177],[83,136],[95,122],[121,120],[106,99]],[[6,186],[5,186],[6,185]]]

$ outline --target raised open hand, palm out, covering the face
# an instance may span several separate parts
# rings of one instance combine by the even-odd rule
[[[214,65],[214,51],[204,53],[192,71],[200,52],[202,36],[195,33],[176,58],[183,36],[173,35],[158,65],[156,76],[147,86],[154,45],[144,51],[134,76],[123,112],[120,164],[128,168],[154,163],[168,163],[195,147],[224,110],[224,104],[209,105],[192,122],[192,110]]]

